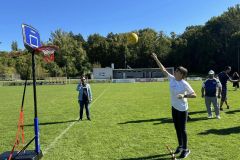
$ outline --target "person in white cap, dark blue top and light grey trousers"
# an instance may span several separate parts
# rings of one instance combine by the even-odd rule
[[[202,98],[205,97],[205,104],[207,108],[208,118],[212,118],[212,111],[211,111],[211,103],[214,106],[214,111],[216,114],[216,118],[220,119],[219,114],[219,106],[217,103],[217,97],[220,98],[221,91],[222,91],[222,85],[220,81],[216,78],[214,78],[214,71],[210,70],[208,72],[208,79],[203,82],[202,84]],[[218,96],[217,96],[217,90],[218,90]]]

